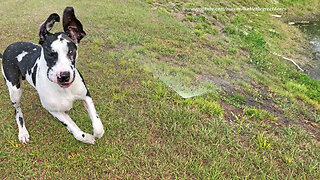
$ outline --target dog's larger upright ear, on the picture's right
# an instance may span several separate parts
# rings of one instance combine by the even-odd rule
[[[79,43],[86,35],[83,31],[82,24],[76,18],[72,7],[66,7],[63,12],[63,30],[75,43]]]

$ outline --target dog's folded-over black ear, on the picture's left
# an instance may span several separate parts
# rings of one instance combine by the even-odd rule
[[[50,30],[52,29],[55,22],[60,22],[60,17],[57,13],[51,14],[48,19],[42,23],[39,27],[39,44],[42,44],[45,40],[45,37],[50,34]]]

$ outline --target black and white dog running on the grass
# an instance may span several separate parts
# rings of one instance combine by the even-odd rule
[[[64,32],[49,32],[55,22],[60,22],[56,13],[40,25],[41,46],[17,42],[11,44],[3,56],[0,54],[3,59],[2,73],[15,107],[19,140],[27,143],[30,139],[20,106],[21,80],[26,79],[38,91],[45,109],[65,125],[77,140],[93,144],[96,137],[102,137],[104,129],[84,80],[75,67],[77,44],[86,33],[72,7],[67,7],[63,13]],[[92,120],[93,135],[84,133],[65,113],[72,108],[74,100],[83,101]]]

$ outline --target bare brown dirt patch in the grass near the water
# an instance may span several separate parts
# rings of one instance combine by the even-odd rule
[[[295,119],[298,120],[297,122],[294,122],[286,117],[285,112],[272,98],[272,91],[270,91],[268,86],[254,84],[254,82],[247,82],[251,85],[251,87],[254,88],[255,91],[259,92],[259,97],[252,96],[245,92],[240,85],[233,83],[233,81],[235,80],[247,81],[249,80],[248,77],[245,77],[237,72],[228,72],[228,75],[228,78],[208,75],[199,75],[198,78],[215,84],[218,88],[221,89],[222,96],[233,96],[234,94],[244,95],[246,103],[241,107],[236,107],[226,100],[223,100],[223,98],[221,98],[221,100],[219,101],[221,107],[224,108],[224,119],[229,124],[233,124],[233,122],[236,121],[235,116],[243,115],[244,107],[257,107],[259,109],[272,113],[277,118],[276,121],[266,121],[266,123],[268,123],[272,127],[297,126],[313,134],[313,138],[317,141],[320,141],[319,124],[305,119],[303,115],[301,115],[300,117],[295,117]]]

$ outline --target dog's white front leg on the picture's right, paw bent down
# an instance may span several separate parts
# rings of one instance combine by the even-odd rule
[[[104,134],[104,129],[96,108],[94,107],[92,98],[90,96],[86,96],[82,102],[91,118],[94,137],[101,138]]]

